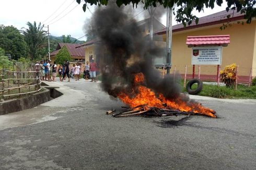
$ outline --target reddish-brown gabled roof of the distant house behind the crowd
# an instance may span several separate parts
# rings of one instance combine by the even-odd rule
[[[56,51],[52,52],[51,56],[58,54],[64,45],[67,47],[67,50],[68,50],[69,54],[71,55],[71,57],[75,57],[75,56],[76,57],[84,57],[85,56],[85,49],[84,48],[76,48],[80,44],[72,44],[72,43],[59,43],[58,46],[56,47]]]

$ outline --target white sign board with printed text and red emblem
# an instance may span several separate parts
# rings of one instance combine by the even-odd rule
[[[221,65],[222,46],[199,46],[192,48],[192,65]]]

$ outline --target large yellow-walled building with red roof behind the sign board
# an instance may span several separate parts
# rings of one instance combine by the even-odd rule
[[[231,15],[227,18],[227,15]],[[244,25],[241,23],[245,22]],[[239,23],[240,22],[240,23]],[[223,23],[230,26],[221,30]],[[171,51],[171,72],[176,70],[181,75],[185,72],[185,65],[188,67],[188,77],[192,77],[191,56],[192,48],[186,44],[187,37],[199,35],[230,35],[230,44],[223,47],[222,65],[236,63],[238,67],[238,81],[249,82],[250,71],[252,76],[256,76],[256,21],[252,20],[247,24],[246,20],[239,13],[232,16],[232,11],[220,11],[219,13],[208,15],[199,19],[198,25],[193,22],[190,26],[183,27],[182,24],[172,27],[172,51]],[[166,29],[156,31],[155,38],[166,41]],[[201,65],[201,79],[216,80],[216,65]],[[199,66],[195,66],[195,77],[197,77]]]

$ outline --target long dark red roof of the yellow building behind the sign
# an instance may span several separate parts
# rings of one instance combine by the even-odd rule
[[[230,18],[227,18],[227,15],[230,15]],[[223,10],[218,13],[199,18],[199,22],[197,25],[195,21],[193,21],[191,25],[187,27],[184,27],[182,23],[172,26],[172,32],[179,32],[179,31],[184,31],[184,30],[189,30],[189,29],[194,29],[199,27],[212,26],[219,23],[225,23],[228,21],[237,21],[237,20],[243,19],[244,16],[245,14],[236,13],[236,11],[233,16],[233,10],[229,10],[228,12],[226,10]],[[165,34],[166,29],[156,31],[154,33],[158,35]]]

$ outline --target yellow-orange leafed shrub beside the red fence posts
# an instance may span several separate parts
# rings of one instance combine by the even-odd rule
[[[236,68],[236,64],[231,64],[220,71],[220,80],[226,84],[226,87],[231,87],[236,82]]]

